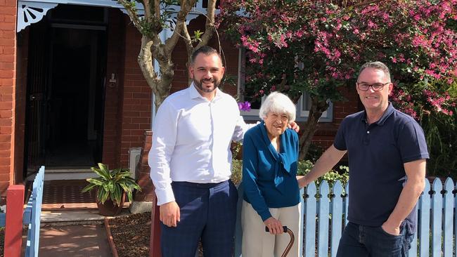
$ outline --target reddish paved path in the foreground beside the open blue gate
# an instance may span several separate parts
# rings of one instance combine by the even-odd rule
[[[44,224],[40,230],[39,256],[111,257],[112,253],[102,224]]]

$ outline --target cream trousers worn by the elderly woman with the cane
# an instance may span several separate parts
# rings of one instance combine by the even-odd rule
[[[302,235],[299,234],[300,226],[300,206],[283,208],[270,208],[273,218],[281,221],[283,226],[287,226],[295,235],[295,241],[288,253],[288,257],[300,256],[299,244],[302,242]],[[252,205],[243,200],[241,209],[241,226],[243,228],[243,244],[241,253],[246,257],[281,257],[285,247],[290,242],[288,233],[281,235],[271,235],[265,232],[265,224]]]

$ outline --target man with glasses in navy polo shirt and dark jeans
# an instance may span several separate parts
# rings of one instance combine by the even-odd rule
[[[382,62],[362,65],[356,82],[365,110],[347,116],[335,141],[300,178],[304,187],[349,159],[349,223],[337,256],[406,256],[424,190],[425,136],[419,124],[389,103],[393,84]]]

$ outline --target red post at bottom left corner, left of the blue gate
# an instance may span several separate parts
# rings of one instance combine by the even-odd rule
[[[10,185],[6,190],[6,230],[4,256],[20,257],[22,249],[22,213],[24,185]]]

